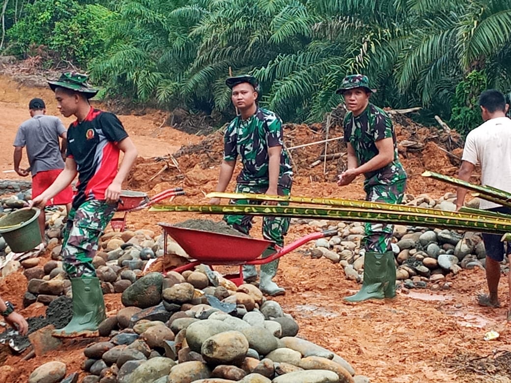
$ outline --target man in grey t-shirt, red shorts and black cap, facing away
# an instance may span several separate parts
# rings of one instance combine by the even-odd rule
[[[22,177],[32,173],[32,198],[35,198],[50,186],[64,169],[62,157],[65,153],[66,130],[60,118],[45,114],[46,106],[41,99],[30,100],[29,111],[32,118],[19,126],[14,139],[14,171]],[[62,146],[59,145],[59,137],[62,137]],[[27,147],[29,169],[19,167],[24,147]],[[73,190],[69,185],[49,200],[47,206],[65,205],[69,213],[72,199]],[[44,244],[44,212],[39,214],[38,222]]]

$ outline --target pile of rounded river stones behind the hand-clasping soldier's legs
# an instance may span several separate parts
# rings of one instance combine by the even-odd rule
[[[427,195],[407,195],[405,204],[453,211],[456,196],[447,193],[438,200]],[[479,201],[468,204],[477,208]],[[313,258],[325,257],[343,266],[347,279],[361,282],[363,278],[364,236],[362,223],[338,221],[310,221],[317,230],[337,228],[338,235],[321,238],[309,250]],[[394,226],[392,251],[396,255],[397,279],[406,288],[430,288],[447,290],[451,282],[445,280],[449,273],[457,274],[461,269],[485,266],[485,250],[479,233],[456,230],[441,230],[418,226]],[[504,266],[503,266],[504,267]]]

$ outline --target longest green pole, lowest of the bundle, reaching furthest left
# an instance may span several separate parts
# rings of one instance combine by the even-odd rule
[[[200,212],[206,214],[246,214],[254,216],[280,216],[290,218],[328,219],[338,221],[385,222],[388,224],[413,224],[448,229],[483,231],[495,234],[511,232],[508,221],[488,217],[470,218],[454,213],[457,218],[443,215],[396,213],[384,210],[369,211],[355,208],[304,208],[291,206],[260,205],[155,205],[150,211]]]

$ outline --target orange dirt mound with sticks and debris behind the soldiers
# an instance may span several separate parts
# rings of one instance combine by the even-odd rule
[[[340,110],[340,108],[338,108]],[[459,166],[463,141],[451,131],[424,127],[400,114],[391,114],[398,137],[400,158],[409,176],[408,192],[435,194],[452,191],[442,182],[421,177],[425,170],[455,175]],[[337,110],[321,124],[285,124],[285,145],[291,154],[296,176],[311,182],[335,182],[345,170],[346,145],[342,139],[307,145],[326,138],[343,135],[342,111]],[[193,145],[182,146],[173,156],[137,159],[127,180],[131,189],[149,191],[161,182],[181,187],[207,187],[216,181],[222,161],[223,129],[206,136]]]

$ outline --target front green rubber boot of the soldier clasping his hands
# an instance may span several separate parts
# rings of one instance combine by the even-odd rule
[[[367,299],[385,298],[385,290],[388,286],[388,257],[386,253],[374,253],[366,251],[364,255],[364,281],[360,291],[344,300],[349,302],[361,302]],[[396,268],[394,267],[394,273]],[[394,274],[394,281],[396,276]],[[396,283],[394,282],[394,289]],[[395,294],[395,292],[394,292]]]

